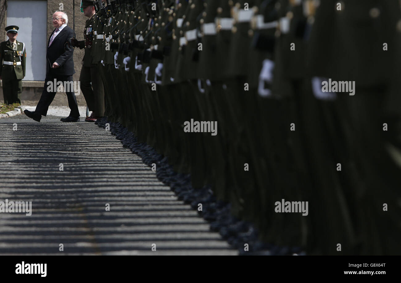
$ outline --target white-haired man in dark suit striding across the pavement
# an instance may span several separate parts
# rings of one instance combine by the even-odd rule
[[[61,81],[64,85],[73,86],[73,74],[75,73],[73,47],[69,42],[71,38],[75,37],[75,33],[67,26],[67,14],[55,12],[52,20],[55,30],[47,43],[46,79],[42,96],[34,112],[24,111],[26,116],[38,122],[40,122],[42,115],[46,116],[49,105],[56,95],[57,86],[52,85],[54,81]],[[79,111],[75,94],[71,89],[67,89],[66,94],[71,112],[67,118],[61,118],[61,121],[78,122]]]

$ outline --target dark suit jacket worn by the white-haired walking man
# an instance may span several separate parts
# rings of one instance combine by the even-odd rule
[[[53,77],[57,77],[58,75],[73,75],[75,74],[73,61],[74,50],[71,44],[69,45],[67,42],[69,42],[72,37],[75,38],[75,33],[69,26],[65,26],[49,46],[50,39],[55,30],[56,29],[53,30],[47,41],[46,74],[50,72]],[[60,67],[52,69],[51,67],[54,62],[59,64]]]

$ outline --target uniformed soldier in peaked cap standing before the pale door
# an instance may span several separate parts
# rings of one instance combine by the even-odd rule
[[[3,80],[5,104],[21,103],[18,97],[25,77],[26,50],[23,42],[17,41],[18,26],[7,26],[8,41],[0,43],[0,79]]]

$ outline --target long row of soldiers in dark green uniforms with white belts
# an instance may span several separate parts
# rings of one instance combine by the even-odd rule
[[[261,238],[399,254],[401,6],[393,0],[98,0],[105,116],[213,187]],[[324,92],[348,81],[354,94]],[[187,132],[186,121],[216,121]],[[308,202],[308,215],[275,202]]]

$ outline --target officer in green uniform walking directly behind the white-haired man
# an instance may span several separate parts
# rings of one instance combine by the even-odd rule
[[[104,115],[104,90],[99,69],[97,64],[92,63],[92,47],[93,47],[93,27],[95,21],[95,7],[94,2],[83,0],[81,8],[83,8],[84,15],[88,17],[85,22],[85,30],[83,32],[84,40],[78,41],[72,39],[71,43],[74,47],[79,49],[85,48],[85,55],[83,56],[83,66],[79,81],[81,83],[81,90],[85,97],[86,104],[90,111],[91,116],[85,119],[87,122],[96,122],[97,118]],[[92,83],[92,84],[91,84]]]

